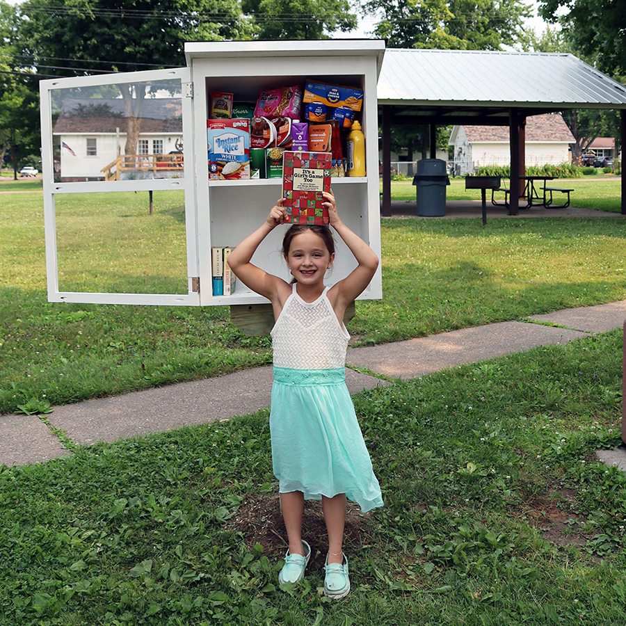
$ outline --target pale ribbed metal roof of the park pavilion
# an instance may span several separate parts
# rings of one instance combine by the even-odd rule
[[[626,86],[572,54],[388,48],[378,105],[394,122],[499,124],[511,108],[626,109]]]

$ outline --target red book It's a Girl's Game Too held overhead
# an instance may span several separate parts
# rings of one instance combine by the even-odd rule
[[[330,191],[330,152],[291,152],[282,161],[282,206],[292,224],[328,224],[323,191]]]

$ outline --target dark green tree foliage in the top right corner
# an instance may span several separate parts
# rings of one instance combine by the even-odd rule
[[[541,0],[539,13],[559,23],[582,56],[593,57],[609,76],[626,76],[626,10],[623,1]]]

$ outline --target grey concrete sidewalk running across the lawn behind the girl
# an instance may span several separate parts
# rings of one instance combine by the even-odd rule
[[[352,348],[348,350],[348,366],[367,370],[372,375],[346,369],[346,382],[350,392],[356,393],[392,384],[376,374],[408,380],[447,367],[536,346],[565,344],[622,328],[625,319],[626,300],[622,300],[532,316],[528,321],[501,322],[404,342]],[[58,406],[44,416],[49,426],[35,415],[3,415],[0,416],[0,465],[40,463],[70,454],[54,434],[54,428],[61,429],[77,444],[88,445],[248,415],[269,406],[271,384],[271,367],[260,367],[220,378]],[[598,456],[626,470],[623,447],[599,452]]]

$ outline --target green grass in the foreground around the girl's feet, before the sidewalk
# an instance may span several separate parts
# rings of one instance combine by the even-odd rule
[[[266,411],[0,468],[0,625],[621,624],[626,477],[593,454],[621,351],[610,332],[355,396],[385,507],[348,515],[340,602],[314,506],[307,577],[278,588]]]

